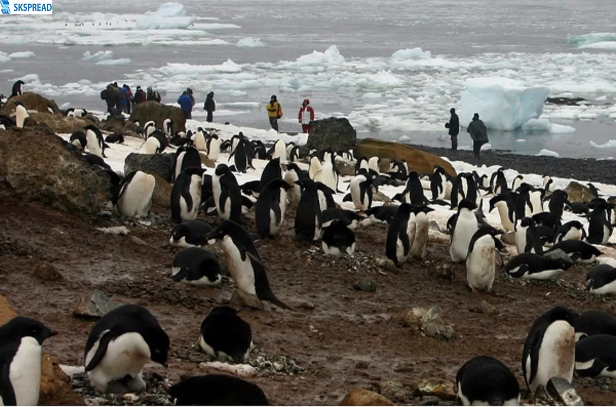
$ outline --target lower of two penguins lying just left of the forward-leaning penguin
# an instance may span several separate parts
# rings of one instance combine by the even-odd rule
[[[198,287],[214,287],[221,283],[221,264],[216,255],[200,247],[180,250],[171,263],[171,279]]]

